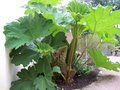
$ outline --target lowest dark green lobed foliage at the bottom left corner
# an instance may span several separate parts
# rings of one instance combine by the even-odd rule
[[[12,82],[10,90],[55,90],[53,72],[60,71],[59,68],[53,71],[50,63],[50,57],[47,57],[40,59],[35,66],[22,69],[17,74],[20,79]]]

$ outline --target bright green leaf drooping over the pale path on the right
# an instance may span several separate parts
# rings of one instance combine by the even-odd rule
[[[109,61],[109,58],[104,56],[100,50],[91,48],[88,49],[88,53],[97,67],[103,67],[115,71],[118,71],[118,68],[120,68],[120,63],[113,63]]]

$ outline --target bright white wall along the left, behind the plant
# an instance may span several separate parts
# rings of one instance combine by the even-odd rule
[[[21,6],[26,2],[27,0],[1,0],[0,2],[0,90],[9,90],[14,72],[14,68],[7,58],[9,50],[4,47],[3,26],[24,15]]]

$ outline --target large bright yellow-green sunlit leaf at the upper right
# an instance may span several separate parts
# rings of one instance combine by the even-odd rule
[[[104,41],[114,40],[114,35],[120,35],[120,29],[115,25],[120,24],[120,10],[111,11],[112,7],[92,8],[91,13],[81,21],[93,32],[97,32],[100,37],[105,35]]]

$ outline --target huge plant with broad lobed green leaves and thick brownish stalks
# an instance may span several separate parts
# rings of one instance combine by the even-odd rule
[[[59,0],[29,0],[26,16],[8,23],[4,29],[7,37],[6,48],[12,49],[11,63],[23,65],[18,72],[20,78],[13,81],[10,90],[55,90],[55,79],[72,83],[73,77],[84,66],[76,70],[78,39],[90,30],[92,37],[98,34],[101,42],[116,43],[114,35],[120,35],[120,10],[111,11],[112,7],[97,6],[92,8],[84,2],[71,1],[67,8],[58,9]],[[68,43],[65,34],[72,34]],[[85,46],[79,60],[87,50],[97,67],[118,70],[120,64],[112,63],[100,50]],[[33,66],[29,66],[32,62]],[[26,69],[28,67],[28,69]],[[89,70],[88,70],[89,71]],[[56,74],[57,73],[57,74]]]

